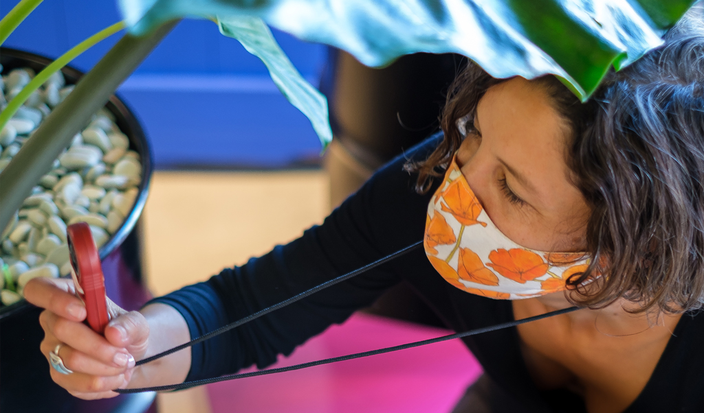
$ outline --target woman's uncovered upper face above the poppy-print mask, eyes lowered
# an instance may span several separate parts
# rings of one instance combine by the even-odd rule
[[[473,126],[458,164],[498,229],[522,247],[584,251],[590,210],[568,179],[565,121],[546,91],[522,77],[492,86]]]

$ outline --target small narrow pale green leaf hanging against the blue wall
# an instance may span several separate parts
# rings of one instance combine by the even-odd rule
[[[327,99],[298,73],[284,51],[272,36],[269,27],[256,17],[240,15],[229,18],[218,16],[220,32],[239,40],[244,48],[260,58],[271,78],[292,105],[308,117],[323,147],[332,141],[328,121]]]

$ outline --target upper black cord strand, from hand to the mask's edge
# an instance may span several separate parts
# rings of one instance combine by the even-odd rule
[[[330,287],[334,284],[337,284],[338,282],[343,282],[343,281],[348,280],[352,277],[355,277],[356,275],[360,275],[361,273],[364,273],[365,271],[371,270],[372,268],[375,268],[379,265],[382,265],[383,263],[389,262],[389,261],[393,260],[394,258],[397,258],[399,256],[402,256],[403,254],[406,254],[410,251],[413,251],[414,249],[417,249],[422,244],[423,244],[422,241],[418,241],[415,244],[411,244],[406,248],[399,249],[398,251],[394,252],[394,254],[387,255],[384,258],[381,258],[377,261],[374,261],[373,263],[367,264],[361,268],[357,268],[356,270],[352,271],[351,273],[346,273],[346,274],[340,275],[339,277],[334,278],[332,280],[323,282],[322,284],[318,285],[317,287],[313,287],[307,291],[303,291],[301,294],[297,294],[295,296],[292,296],[290,299],[286,299],[278,304],[264,308],[263,310],[259,310],[256,313],[253,313],[251,315],[248,315],[248,316],[242,318],[241,320],[237,320],[236,322],[232,322],[224,327],[220,327],[219,329],[213,330],[212,332],[209,332],[208,334],[203,334],[203,336],[200,336],[197,339],[193,339],[193,340],[189,341],[188,343],[183,343],[180,346],[170,348],[169,350],[163,351],[163,352],[158,353],[156,355],[152,355],[151,357],[139,360],[137,362],[137,366],[151,362],[151,361],[156,360],[158,358],[162,358],[166,355],[176,353],[178,350],[183,350],[184,348],[194,346],[195,344],[198,344],[201,341],[206,341],[207,339],[215,337],[218,334],[222,334],[224,332],[230,331],[231,329],[234,329],[234,328],[239,327],[243,324],[246,324],[252,320],[256,320],[257,318],[259,318],[263,315],[267,315],[268,313],[271,313],[272,311],[275,311],[275,310],[278,310],[279,308],[288,306],[289,304],[295,303],[298,300],[305,299],[307,296],[310,296],[310,294],[315,294],[322,289],[326,289],[327,287]]]

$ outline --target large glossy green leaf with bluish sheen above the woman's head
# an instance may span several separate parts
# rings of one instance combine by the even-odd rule
[[[250,15],[369,66],[460,53],[494,77],[555,74],[586,100],[603,74],[660,46],[694,0],[118,0],[130,31]]]

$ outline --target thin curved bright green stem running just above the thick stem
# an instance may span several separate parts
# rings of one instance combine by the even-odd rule
[[[39,72],[37,76],[35,76],[34,79],[30,81],[30,83],[26,84],[22,91],[20,91],[20,93],[18,93],[17,96],[15,96],[12,100],[10,100],[7,107],[5,107],[5,109],[0,113],[0,131],[4,128],[7,121],[12,119],[15,112],[17,112],[20,106],[22,106],[22,104],[25,103],[27,99],[30,98],[30,96],[32,96],[32,93],[34,91],[39,89],[39,86],[42,86],[45,81],[49,80],[49,77],[51,77],[52,74],[61,70],[61,68],[65,65],[68,65],[71,60],[75,59],[78,55],[80,55],[84,51],[87,51],[89,48],[92,48],[99,41],[111,37],[113,34],[119,32],[124,28],[125,22],[117,22],[110,27],[106,27],[105,29],[102,29],[100,32],[97,32],[88,39],[85,39],[84,41],[80,42],[72,49],[70,49],[70,51],[63,53],[61,57],[54,60],[54,62],[51,62],[49,66],[44,67],[44,70],[42,70],[42,72]]]

